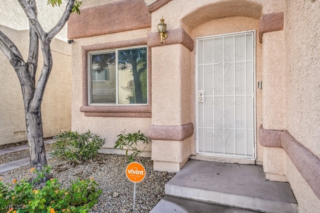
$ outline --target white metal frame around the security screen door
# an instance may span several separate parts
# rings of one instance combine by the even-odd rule
[[[228,154],[217,154],[217,153],[199,153],[198,151],[198,40],[203,38],[215,38],[215,37],[225,37],[228,35],[237,35],[237,34],[244,34],[252,32],[253,34],[253,157],[246,157],[246,156],[237,156],[237,155],[228,155]],[[210,36],[201,36],[195,37],[195,90],[194,90],[194,100],[195,100],[195,150],[197,155],[204,155],[204,156],[218,156],[218,157],[230,157],[230,158],[239,158],[239,159],[256,159],[256,73],[255,73],[255,66],[256,66],[256,31],[255,30],[247,30],[247,31],[240,31],[240,32],[231,32],[231,33],[224,33],[218,35],[210,35]]]

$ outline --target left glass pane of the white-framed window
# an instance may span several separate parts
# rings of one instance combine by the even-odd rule
[[[115,103],[115,52],[90,55],[91,103]]]

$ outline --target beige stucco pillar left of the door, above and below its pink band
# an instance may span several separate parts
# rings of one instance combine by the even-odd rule
[[[152,47],[153,125],[181,125],[190,122],[191,57],[190,50],[182,44]],[[191,136],[182,141],[152,140],[153,168],[178,171],[191,154],[190,144],[193,138]]]

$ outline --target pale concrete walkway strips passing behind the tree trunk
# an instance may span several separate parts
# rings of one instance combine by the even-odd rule
[[[54,139],[45,140],[44,145],[51,144],[53,142],[54,142]],[[11,148],[1,149],[0,155],[15,152],[15,151],[21,151],[21,150],[28,149],[28,148],[29,148],[28,145],[20,145],[20,146],[15,146],[15,147],[11,147]],[[45,156],[47,159],[51,158],[51,156],[48,153],[46,153]],[[29,165],[29,164],[30,164],[29,157],[15,160],[15,161],[11,161],[11,162],[7,162],[7,163],[3,163],[3,164],[0,164],[0,173],[3,173],[5,171],[9,171],[9,170],[12,170],[14,168],[18,168],[18,167],[21,167],[24,165]]]

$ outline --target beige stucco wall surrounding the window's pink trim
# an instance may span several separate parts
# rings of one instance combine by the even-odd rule
[[[107,35],[74,39],[72,43],[72,130],[84,132],[90,130],[105,138],[103,147],[111,148],[116,141],[116,135],[121,131],[132,133],[140,130],[147,134],[151,118],[148,117],[93,117],[80,112],[82,106],[82,50],[81,46],[101,44],[106,42],[145,38],[150,29],[139,29]],[[148,145],[145,151],[150,151]]]

